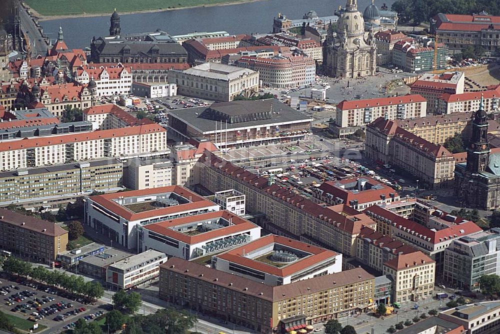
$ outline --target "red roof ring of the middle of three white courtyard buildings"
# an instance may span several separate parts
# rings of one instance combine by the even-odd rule
[[[189,236],[187,234],[184,234],[182,232],[177,232],[173,230],[172,228],[178,225],[183,225],[183,224],[188,224],[188,223],[196,223],[196,222],[202,222],[205,220],[210,220],[210,219],[218,219],[218,218],[223,218],[226,221],[230,221],[231,225],[225,226],[219,229],[215,230],[210,230],[204,233],[196,234],[193,236]],[[200,215],[194,215],[194,216],[187,216],[187,217],[181,217],[177,219],[171,219],[168,221],[163,221],[159,223],[154,223],[154,224],[149,224],[145,225],[144,229],[150,230],[156,233],[159,233],[161,235],[165,235],[168,237],[171,237],[175,240],[179,240],[183,243],[186,243],[188,245],[192,244],[197,244],[201,243],[204,241],[209,241],[215,238],[222,238],[224,236],[234,234],[234,233],[241,233],[244,231],[248,231],[250,229],[257,228],[257,225],[253,224],[252,222],[241,218],[227,210],[222,210],[222,211],[213,211],[213,212],[208,212]]]

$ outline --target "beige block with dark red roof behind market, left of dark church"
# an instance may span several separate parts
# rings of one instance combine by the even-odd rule
[[[404,169],[428,188],[446,187],[453,180],[453,155],[444,146],[418,137],[395,121],[380,117],[366,126],[365,152],[373,162]]]

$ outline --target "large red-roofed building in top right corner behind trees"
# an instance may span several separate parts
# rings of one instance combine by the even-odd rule
[[[492,54],[500,45],[500,16],[484,11],[471,15],[438,13],[430,21],[430,31],[437,33],[450,50],[480,46]]]

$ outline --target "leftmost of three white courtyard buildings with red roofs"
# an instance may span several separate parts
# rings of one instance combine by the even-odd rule
[[[218,211],[219,206],[180,186],[90,196],[85,224],[127,250],[139,247],[137,226]]]

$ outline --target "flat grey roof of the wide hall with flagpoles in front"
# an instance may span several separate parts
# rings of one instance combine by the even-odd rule
[[[292,122],[306,122],[312,121],[310,116],[307,116],[297,110],[294,110],[279,102],[276,99],[265,99],[256,101],[232,101],[232,102],[219,102],[213,103],[209,107],[187,108],[169,110],[167,113],[184,123],[189,124],[201,132],[215,131],[215,121],[213,119],[206,119],[201,116],[201,113],[207,109],[214,109],[221,113],[237,115],[244,114],[251,110],[252,113],[263,113],[271,111],[271,118],[251,120],[238,123],[227,123],[227,129],[237,129],[248,126],[267,125],[276,123],[292,123]],[[223,122],[225,128],[225,121]]]

